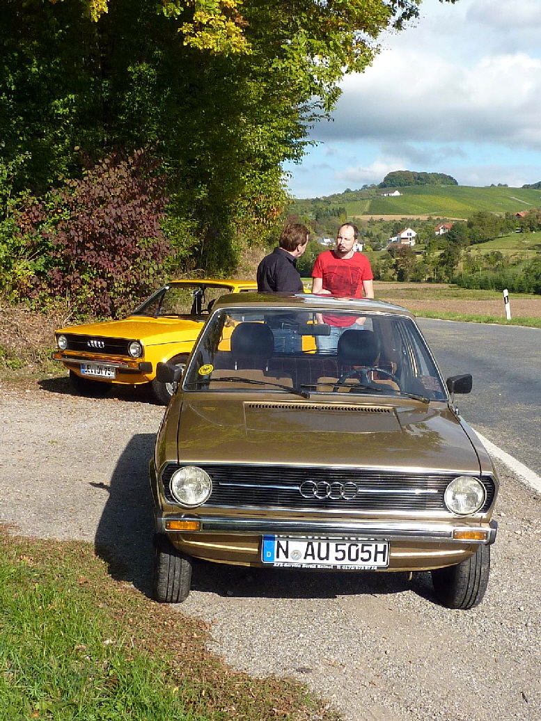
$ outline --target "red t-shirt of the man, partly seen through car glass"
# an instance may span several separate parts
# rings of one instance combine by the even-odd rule
[[[312,270],[312,278],[321,278],[323,290],[339,298],[362,298],[363,280],[373,280],[370,261],[359,252],[351,258],[340,258],[334,250],[325,250],[317,256]],[[323,316],[325,323],[335,326],[348,326],[354,319],[348,316]]]

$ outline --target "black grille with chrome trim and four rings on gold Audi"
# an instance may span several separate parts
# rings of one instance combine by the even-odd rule
[[[168,500],[170,478],[179,466],[162,472]],[[414,474],[358,468],[200,464],[212,479],[206,506],[229,508],[303,508],[307,510],[446,511],[444,492],[457,474]],[[491,477],[481,477],[488,509],[496,492]],[[303,492],[302,492],[303,490]]]

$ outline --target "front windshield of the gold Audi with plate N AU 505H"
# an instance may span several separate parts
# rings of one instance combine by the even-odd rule
[[[219,311],[203,329],[182,389],[447,399],[413,319],[334,309]]]

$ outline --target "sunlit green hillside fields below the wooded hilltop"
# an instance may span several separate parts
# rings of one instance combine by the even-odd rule
[[[541,190],[516,187],[470,187],[467,185],[412,185],[398,188],[396,198],[363,198],[354,191],[328,198],[296,200],[292,211],[309,213],[315,204],[346,209],[354,216],[434,216],[436,218],[468,218],[475,211],[517,213],[541,206]],[[379,193],[382,193],[379,190]],[[379,196],[377,193],[377,196]],[[374,196],[374,192],[371,193]]]

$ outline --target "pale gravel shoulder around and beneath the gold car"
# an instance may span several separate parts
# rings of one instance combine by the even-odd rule
[[[148,461],[164,409],[50,379],[0,394],[0,521],[96,544],[115,578],[150,592]],[[501,470],[485,601],[449,611],[428,574],[320,575],[197,563],[179,613],[255,676],[293,676],[349,721],[537,721],[541,708],[541,497]]]

